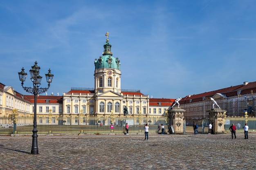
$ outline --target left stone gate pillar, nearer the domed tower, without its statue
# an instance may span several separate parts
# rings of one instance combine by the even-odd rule
[[[183,135],[184,112],[186,112],[186,110],[178,107],[171,108],[168,110],[168,124],[169,127],[173,125],[173,130],[175,134]]]

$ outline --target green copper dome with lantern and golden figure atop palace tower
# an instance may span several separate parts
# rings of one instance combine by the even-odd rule
[[[111,52],[111,44],[108,41],[108,32],[105,34],[107,36],[107,41],[104,44],[104,52],[102,53],[102,56],[99,57],[99,59],[95,59],[94,65],[95,69],[98,68],[115,68],[120,70],[120,61],[117,58],[112,56]]]

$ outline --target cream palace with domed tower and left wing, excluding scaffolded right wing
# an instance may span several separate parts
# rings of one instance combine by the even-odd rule
[[[90,117],[163,117],[175,99],[155,99],[144,95],[140,90],[121,89],[120,60],[114,57],[111,44],[107,40],[103,53],[94,60],[94,88],[71,88],[62,96],[37,96],[37,116],[72,117],[83,114]],[[11,86],[0,86],[0,116],[8,116],[13,109],[20,116],[34,115],[34,95],[22,95]]]

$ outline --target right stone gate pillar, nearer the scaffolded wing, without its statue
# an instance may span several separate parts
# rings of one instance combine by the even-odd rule
[[[222,110],[221,108],[212,108],[206,112],[209,112],[209,123],[213,125],[212,130],[214,134],[224,133],[224,123],[227,111]]]

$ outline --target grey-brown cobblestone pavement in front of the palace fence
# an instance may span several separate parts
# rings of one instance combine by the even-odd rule
[[[1,170],[255,170],[256,134],[0,136]]]

